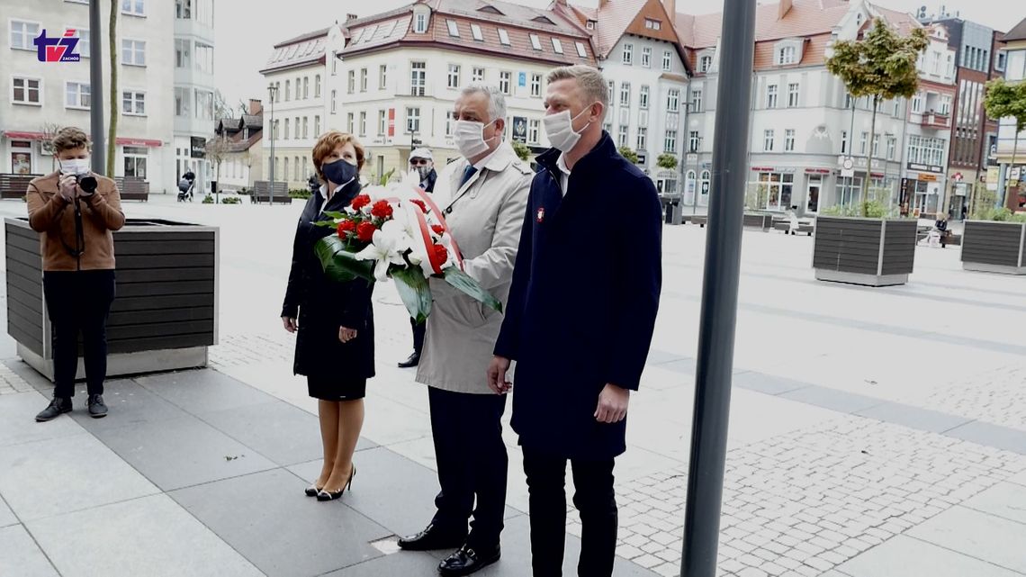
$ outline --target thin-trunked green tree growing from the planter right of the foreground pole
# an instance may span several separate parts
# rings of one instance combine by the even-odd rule
[[[921,28],[913,29],[909,36],[901,36],[884,21],[876,18],[861,40],[842,40],[833,45],[833,54],[827,59],[827,70],[844,82],[853,97],[865,97],[872,103],[870,143],[876,140],[876,112],[880,103],[912,98],[918,89],[916,63],[929,43]],[[873,151],[870,146],[866,179],[862,183],[863,204],[869,200],[872,174]],[[864,206],[863,216],[868,216],[866,213]]]

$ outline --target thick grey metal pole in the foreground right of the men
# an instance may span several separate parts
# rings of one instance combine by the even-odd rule
[[[685,577],[716,576],[749,146],[749,139],[737,136],[748,133],[752,115],[755,0],[725,0],[720,38],[721,89],[716,100],[702,322],[680,566],[681,575]]]

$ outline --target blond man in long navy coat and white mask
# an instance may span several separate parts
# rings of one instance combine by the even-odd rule
[[[535,577],[561,575],[566,461],[583,532],[579,574],[613,574],[614,459],[626,450],[659,308],[662,211],[648,177],[602,130],[608,90],[591,67],[548,76],[537,159],[506,318],[488,368],[499,394],[516,361],[513,429],[530,493]]]

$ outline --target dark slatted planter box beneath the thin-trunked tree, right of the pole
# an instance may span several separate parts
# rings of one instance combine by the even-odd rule
[[[915,230],[914,220],[818,217],[816,278],[867,286],[904,284],[915,262]]]

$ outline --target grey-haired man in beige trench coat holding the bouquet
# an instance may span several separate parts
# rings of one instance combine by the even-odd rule
[[[442,169],[434,197],[460,245],[464,270],[505,302],[534,174],[503,139],[506,101],[498,88],[467,86],[455,113],[463,157]],[[444,281],[432,279],[431,293],[417,381],[429,387],[441,491],[428,527],[400,539],[399,546],[457,548],[439,572],[470,575],[499,560],[506,509],[508,458],[501,424],[506,396],[492,392],[485,378],[503,315]]]

